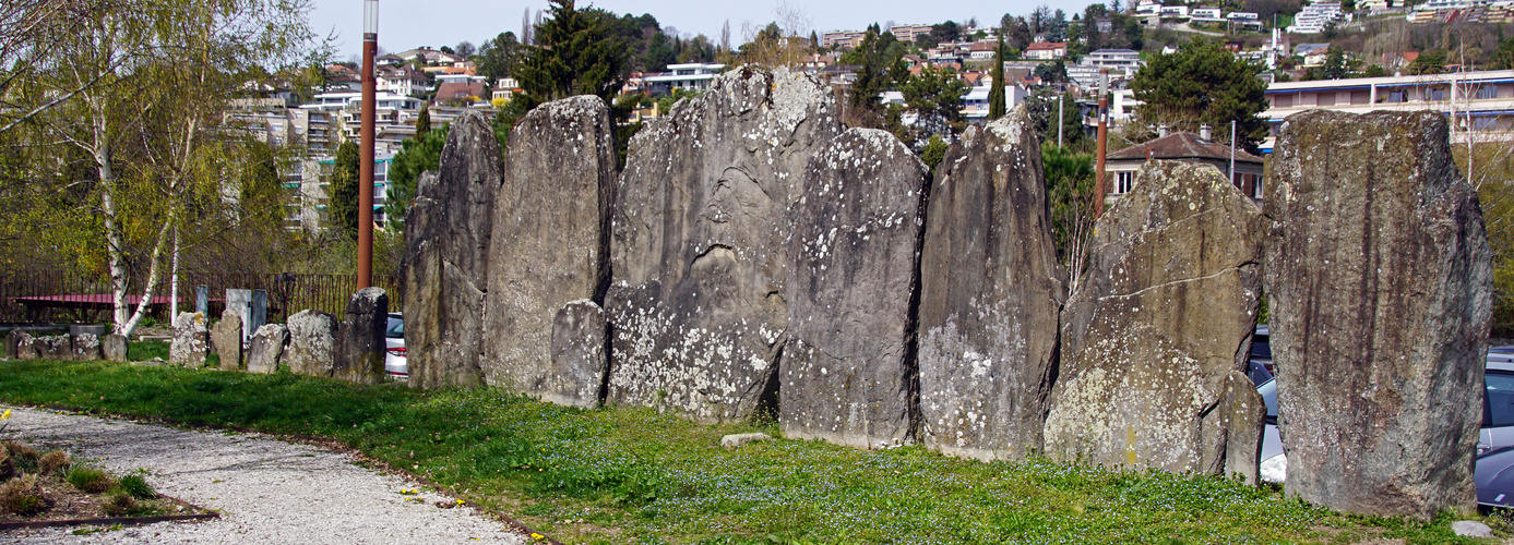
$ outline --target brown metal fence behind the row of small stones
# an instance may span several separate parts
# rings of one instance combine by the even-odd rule
[[[389,292],[391,309],[398,307],[398,279],[372,277],[374,286]],[[179,276],[179,312],[194,310],[195,288],[207,286],[209,313],[218,318],[226,307],[227,289],[266,289],[268,321],[282,322],[291,313],[315,309],[341,316],[357,291],[351,274],[201,274]],[[164,279],[153,292],[151,312],[168,319],[171,280]],[[89,324],[111,321],[111,282],[106,277],[68,271],[30,269],[0,272],[0,322],[9,324]],[[130,304],[138,303],[141,285],[132,286]]]

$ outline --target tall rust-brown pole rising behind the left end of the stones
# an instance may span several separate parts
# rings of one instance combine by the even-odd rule
[[[378,53],[378,0],[363,0],[363,127],[357,165],[357,289],[372,286],[374,271],[374,139]]]

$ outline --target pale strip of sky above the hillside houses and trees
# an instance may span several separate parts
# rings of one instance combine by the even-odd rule
[[[360,0],[313,0],[312,26],[321,32],[338,35],[338,59],[362,53],[362,2]],[[731,44],[742,42],[742,24],[762,27],[778,18],[781,6],[801,12],[816,33],[825,30],[861,30],[868,24],[942,23],[952,20],[966,23],[977,17],[981,24],[995,24],[1004,14],[1026,15],[1037,5],[1072,12],[1083,12],[1089,3],[1055,3],[1046,0],[1008,0],[1004,3],[957,3],[946,5],[922,0],[830,0],[830,2],[699,2],[699,0],[598,0],[595,8],[616,14],[651,14],[663,29],[672,26],[680,33],[710,36],[719,41],[721,26],[731,21]],[[578,6],[584,3],[580,2]],[[524,0],[380,0],[378,47],[403,51],[418,45],[456,45],[471,41],[475,45],[501,32],[521,33],[521,17],[525,9],[547,9],[547,2]]]

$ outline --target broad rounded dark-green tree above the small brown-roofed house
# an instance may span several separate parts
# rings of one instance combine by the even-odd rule
[[[1131,79],[1136,109],[1143,124],[1167,124],[1198,132],[1199,124],[1228,127],[1237,123],[1237,139],[1249,150],[1267,135],[1258,118],[1267,109],[1267,83],[1260,70],[1226,51],[1220,44],[1193,39],[1172,54],[1154,56]]]

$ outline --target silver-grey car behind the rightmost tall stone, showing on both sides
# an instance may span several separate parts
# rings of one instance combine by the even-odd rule
[[[1485,471],[1493,471],[1491,466],[1505,463],[1503,460],[1514,462],[1514,454],[1491,456],[1494,451],[1514,447],[1514,347],[1488,348],[1485,365],[1482,378],[1482,430],[1478,431],[1478,471],[1484,471],[1482,463],[1487,459],[1493,462],[1487,462],[1490,468]],[[1261,386],[1257,386],[1257,394],[1261,394],[1261,400],[1267,406],[1267,421],[1261,434],[1261,468],[1258,478],[1264,483],[1282,483],[1288,475],[1288,459],[1282,453],[1282,436],[1278,434],[1278,382],[1267,380]],[[1502,474],[1503,469],[1497,471]],[[1478,480],[1479,501],[1484,483],[1481,478]],[[1487,478],[1493,481],[1491,475]],[[1514,481],[1514,472],[1509,472],[1509,480]],[[1514,489],[1505,489],[1505,492],[1514,501]]]

